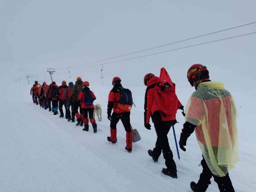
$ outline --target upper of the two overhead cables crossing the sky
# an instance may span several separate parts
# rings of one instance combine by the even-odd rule
[[[110,60],[110,59],[114,59],[114,58],[118,58],[118,57],[122,57],[122,56],[131,55],[131,54],[134,54],[134,53],[140,53],[140,52],[144,52],[144,51],[147,51],[147,50],[151,50],[151,49],[155,49],[155,48],[159,48],[159,47],[164,47],[164,46],[167,46],[167,45],[177,44],[177,43],[180,43],[180,42],[183,42],[183,41],[187,41],[187,40],[191,40],[191,39],[196,39],[196,38],[199,38],[199,37],[203,37],[203,36],[206,36],[206,35],[211,35],[211,34],[223,32],[223,31],[228,31],[230,29],[235,29],[235,28],[238,28],[238,27],[247,26],[247,25],[254,24],[254,23],[256,23],[256,22],[248,23],[248,24],[244,24],[244,25],[240,25],[240,26],[236,26],[236,27],[232,27],[232,28],[228,28],[228,29],[224,29],[224,30],[221,30],[221,31],[211,32],[211,33],[208,33],[208,34],[205,34],[205,35],[199,35],[197,37],[192,37],[192,38],[189,38],[189,39],[180,40],[180,41],[173,42],[173,43],[170,43],[170,44],[160,45],[160,46],[157,46],[157,47],[152,47],[152,48],[144,49],[144,50],[141,50],[141,51],[137,51],[137,52],[133,52],[133,53],[128,53],[128,54],[125,54],[125,55],[115,56],[115,57],[107,58],[107,59],[104,59],[104,60],[94,61],[94,62],[85,63],[85,64],[81,64],[81,65],[75,65],[75,66],[71,66],[69,68],[73,68],[73,67],[77,67],[77,66],[83,66],[83,65],[89,65],[89,64],[92,64],[92,63],[98,63],[100,61],[106,61],[106,60]],[[66,68],[59,68],[59,69],[57,69],[57,71],[59,71],[61,69],[67,69],[67,67]]]

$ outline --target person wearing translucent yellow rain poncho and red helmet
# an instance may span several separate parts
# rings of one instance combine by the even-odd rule
[[[186,140],[195,130],[203,154],[203,172],[198,183],[191,182],[190,187],[195,192],[205,192],[213,176],[220,192],[234,192],[228,170],[239,161],[235,101],[222,82],[209,80],[206,66],[192,65],[187,77],[196,91],[185,109],[179,145],[186,151]]]

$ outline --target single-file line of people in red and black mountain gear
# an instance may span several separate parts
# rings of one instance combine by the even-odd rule
[[[193,181],[190,183],[191,189],[194,192],[205,192],[211,184],[211,177],[214,177],[220,192],[234,192],[228,171],[233,169],[239,160],[235,101],[230,92],[224,89],[224,84],[209,79],[209,71],[204,65],[192,65],[188,69],[187,78],[196,91],[188,100],[184,112],[183,105],[175,93],[175,83],[164,68],[160,70],[159,77],[152,73],[144,76],[144,85],[147,87],[144,126],[151,130],[151,118],[157,136],[156,144],[153,150],[148,150],[148,155],[157,162],[162,153],[166,165],[162,173],[178,178],[167,134],[170,128],[178,123],[176,114],[180,109],[185,116],[185,123],[180,134],[179,147],[186,151],[184,146],[187,139],[195,131],[203,155],[201,161],[203,171],[197,183]],[[110,136],[107,140],[112,144],[117,142],[117,123],[121,119],[126,131],[125,150],[131,152],[133,147],[133,131],[130,123],[133,106],[131,91],[122,86],[120,77],[114,77],[112,85],[107,105],[107,118],[110,120]],[[36,105],[40,105],[45,110],[49,108],[54,115],[57,115],[59,110],[60,117],[64,117],[62,109],[64,106],[65,118],[75,122],[76,117],[76,125],[84,124],[84,131],[89,131],[90,120],[94,132],[97,132],[96,120],[93,117],[93,102],[96,96],[89,89],[89,82],[83,82],[81,77],[76,78],[75,85],[70,82],[67,86],[66,82],[62,81],[60,87],[54,81],[49,86],[45,82],[41,86],[35,81],[31,95]]]

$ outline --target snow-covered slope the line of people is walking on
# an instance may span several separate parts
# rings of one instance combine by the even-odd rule
[[[198,181],[202,169],[198,167],[201,152],[194,134],[188,139],[187,151],[180,150],[179,161],[172,130],[169,132],[178,179],[161,173],[165,167],[162,155],[155,163],[147,154],[147,150],[154,147],[156,133],[153,127],[149,131],[143,126],[145,87],[128,87],[133,92],[136,104],[131,111],[131,124],[134,129],[138,129],[142,138],[133,144],[133,151],[128,153],[125,150],[125,130],[121,122],[117,127],[118,142],[112,144],[107,141],[110,122],[106,109],[111,87],[91,87],[97,97],[95,103],[100,103],[103,108],[103,120],[98,122],[96,118],[98,132],[94,134],[91,124],[89,132],[85,132],[81,126],[34,105],[29,95],[31,86],[25,82],[8,84],[0,96],[1,192],[190,192],[190,182]],[[177,94],[183,105],[186,105],[190,95],[187,94],[188,91],[193,91],[189,84],[186,89],[179,89],[177,86]],[[249,110],[255,107],[255,102],[248,105],[248,101],[254,101],[253,96],[243,95],[235,87],[230,92],[235,95],[240,113],[240,162],[230,171],[230,177],[236,191],[253,192],[256,188],[256,150],[255,128],[251,125],[255,114]],[[179,139],[184,123],[180,111],[177,120],[180,123],[175,125],[175,129]],[[219,191],[213,179],[211,181],[207,191]]]

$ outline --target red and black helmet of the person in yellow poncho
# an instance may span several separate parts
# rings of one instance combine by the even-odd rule
[[[194,81],[209,78],[209,71],[204,65],[194,64],[188,69],[187,77],[188,77],[188,81],[193,87]]]

